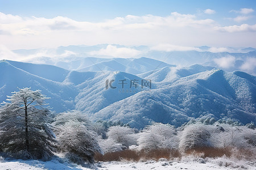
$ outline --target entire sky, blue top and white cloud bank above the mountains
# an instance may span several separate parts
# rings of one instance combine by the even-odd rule
[[[253,0],[0,0],[0,44],[10,49],[101,43],[256,47],[255,10]]]

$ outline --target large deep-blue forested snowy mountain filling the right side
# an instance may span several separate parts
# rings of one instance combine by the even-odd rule
[[[94,120],[121,120],[142,128],[148,122],[181,125],[192,117],[234,118],[243,124],[255,121],[256,78],[236,71],[210,70],[158,84],[94,114]]]

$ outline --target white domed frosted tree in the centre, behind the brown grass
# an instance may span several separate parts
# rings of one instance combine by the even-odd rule
[[[159,148],[175,148],[177,145],[175,128],[169,124],[156,123],[146,126],[139,133],[139,150],[156,150]]]

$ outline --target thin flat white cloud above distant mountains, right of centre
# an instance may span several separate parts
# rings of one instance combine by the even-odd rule
[[[180,46],[180,45],[172,45],[172,44],[159,44],[156,46],[152,46],[151,50],[158,50],[164,52],[172,52],[172,51],[201,51],[199,48],[192,47],[192,46]]]

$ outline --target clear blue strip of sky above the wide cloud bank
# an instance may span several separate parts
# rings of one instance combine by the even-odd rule
[[[78,21],[101,22],[126,15],[157,15],[166,16],[171,12],[180,14],[197,14],[207,8],[216,11],[215,19],[234,16],[231,10],[240,8],[255,8],[256,1],[172,1],[172,0],[129,0],[129,1],[102,1],[102,0],[55,0],[55,1],[0,1],[0,11],[5,14],[20,16],[36,16],[53,18],[66,16]],[[203,17],[203,16],[202,16]]]

